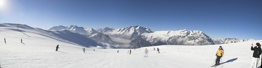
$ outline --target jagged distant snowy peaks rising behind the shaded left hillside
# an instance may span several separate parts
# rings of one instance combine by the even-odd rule
[[[64,27],[64,26],[58,26],[57,27],[57,26],[55,26],[55,27],[50,28],[49,30],[63,30],[63,29],[69,30],[69,31],[72,31],[72,32],[76,32],[76,33],[79,33],[79,34],[87,35],[87,36],[98,33],[93,28],[77,27],[77,26],[73,26],[73,25],[71,25],[69,27]]]

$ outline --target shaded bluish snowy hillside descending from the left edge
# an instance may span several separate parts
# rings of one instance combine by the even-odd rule
[[[33,28],[27,25],[19,24],[19,29],[17,29],[17,24],[11,24],[11,23],[0,23],[0,27],[2,30],[8,31],[8,32],[18,32],[19,34],[23,34],[26,37],[23,38],[23,40],[27,40],[28,38],[32,37],[28,35],[29,33],[34,35],[40,35],[45,38],[51,38],[56,41],[61,41],[77,46],[85,46],[85,47],[107,47],[107,48],[116,48],[112,45],[109,45],[107,43],[95,41],[91,38],[86,37],[85,35],[71,32],[69,30],[60,30],[60,31],[49,31],[49,30],[43,30],[40,28]],[[5,32],[1,32],[5,33]],[[37,37],[36,37],[37,38]],[[21,38],[20,38],[21,39]],[[53,43],[56,44],[56,43]]]

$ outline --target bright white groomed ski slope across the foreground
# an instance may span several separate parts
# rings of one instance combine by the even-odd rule
[[[251,43],[254,46],[257,42],[262,43],[262,40],[257,40],[206,46],[150,46],[131,49],[129,55],[130,49],[103,49],[99,46],[85,48],[83,53],[81,46],[5,27],[0,27],[0,39],[2,68],[210,68],[219,46],[225,53],[221,58],[223,67],[216,68],[248,68],[253,53]],[[58,44],[59,49],[55,51]],[[154,51],[153,47],[159,48],[161,53]],[[148,57],[144,57],[145,48],[149,51]]]

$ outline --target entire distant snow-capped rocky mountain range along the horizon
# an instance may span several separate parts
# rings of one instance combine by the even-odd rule
[[[56,26],[49,30],[69,30],[72,32],[86,35],[97,41],[104,43],[113,44],[112,38],[121,38],[131,40],[129,44],[139,47],[139,42],[143,41],[143,46],[154,46],[157,45],[214,45],[214,44],[226,44],[241,41],[253,41],[250,40],[239,40],[236,38],[232,39],[211,39],[204,32],[201,31],[189,31],[189,30],[177,30],[177,31],[156,31],[152,32],[148,27],[141,26],[130,26],[119,29],[111,27],[99,28],[94,30],[93,28],[83,28],[77,26]],[[101,33],[99,33],[101,32]],[[139,38],[140,37],[140,38]],[[141,38],[143,40],[141,40]],[[152,43],[152,44],[151,44]],[[137,46],[139,44],[139,46]],[[151,45],[150,45],[151,44]]]

